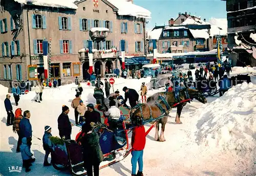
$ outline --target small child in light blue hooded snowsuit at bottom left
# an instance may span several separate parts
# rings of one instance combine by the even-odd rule
[[[29,172],[31,169],[29,168],[32,166],[32,162],[35,161],[34,158],[32,158],[33,154],[30,151],[30,146],[27,144],[27,138],[22,139],[22,145],[20,145],[20,151],[22,152],[22,160],[23,160],[23,167],[25,167],[25,171]]]

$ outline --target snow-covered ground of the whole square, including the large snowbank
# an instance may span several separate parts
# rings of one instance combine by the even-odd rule
[[[232,74],[250,73],[251,70],[238,69]],[[231,76],[231,75],[230,75]],[[256,77],[252,76],[256,83]],[[116,79],[115,90],[121,94],[122,87],[140,89],[141,82],[150,79]],[[95,102],[93,87],[82,84],[82,100]],[[42,138],[44,126],[52,127],[52,135],[58,136],[57,118],[63,104],[70,104],[75,95],[75,85],[60,86],[59,89],[45,89],[43,101],[39,104],[33,100],[31,92],[20,97],[19,106],[23,111],[31,111],[33,135]],[[113,91],[111,89],[111,91]],[[149,91],[152,95],[158,90]],[[68,171],[57,171],[53,167],[43,167],[44,149],[42,141],[33,138],[32,151],[36,161],[30,173],[12,172],[8,167],[22,166],[20,153],[16,153],[17,135],[11,126],[6,126],[4,99],[6,87],[0,85],[0,175],[70,175]],[[148,134],[144,149],[144,175],[256,175],[256,85],[240,84],[230,89],[223,97],[208,97],[207,104],[193,101],[182,111],[183,124],[176,125],[176,109],[170,112],[165,127],[165,142],[154,140],[155,129]],[[14,104],[14,99],[11,97]],[[17,106],[13,105],[14,110]],[[69,114],[74,123],[74,111]],[[146,128],[150,125],[146,125]],[[80,130],[72,128],[72,138]],[[131,175],[131,155],[125,160],[100,170],[100,175]]]

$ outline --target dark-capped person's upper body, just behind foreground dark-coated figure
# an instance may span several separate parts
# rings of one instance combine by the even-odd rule
[[[86,124],[90,124],[91,122],[94,123],[101,123],[101,117],[99,112],[94,110],[94,105],[92,103],[87,105],[88,110],[84,113],[84,118],[86,119]]]

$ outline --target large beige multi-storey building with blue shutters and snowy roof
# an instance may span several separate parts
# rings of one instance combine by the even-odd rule
[[[148,10],[125,0],[73,2],[1,1],[0,83],[9,86],[11,80],[44,78],[42,58],[47,48],[51,78],[82,78],[89,62],[79,50],[86,49],[89,40],[94,69],[100,74],[105,68],[120,67],[119,52],[111,50],[120,50],[120,40],[125,40],[126,55],[144,56]]]

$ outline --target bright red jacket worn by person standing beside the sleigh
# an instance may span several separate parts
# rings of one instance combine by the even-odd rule
[[[132,148],[133,150],[140,151],[143,150],[146,144],[146,133],[143,125],[136,126],[133,128],[132,135]]]

